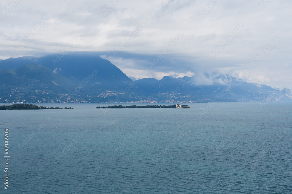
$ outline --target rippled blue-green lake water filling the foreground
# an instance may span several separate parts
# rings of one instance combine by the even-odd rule
[[[0,111],[0,193],[292,193],[292,103],[101,105]]]

